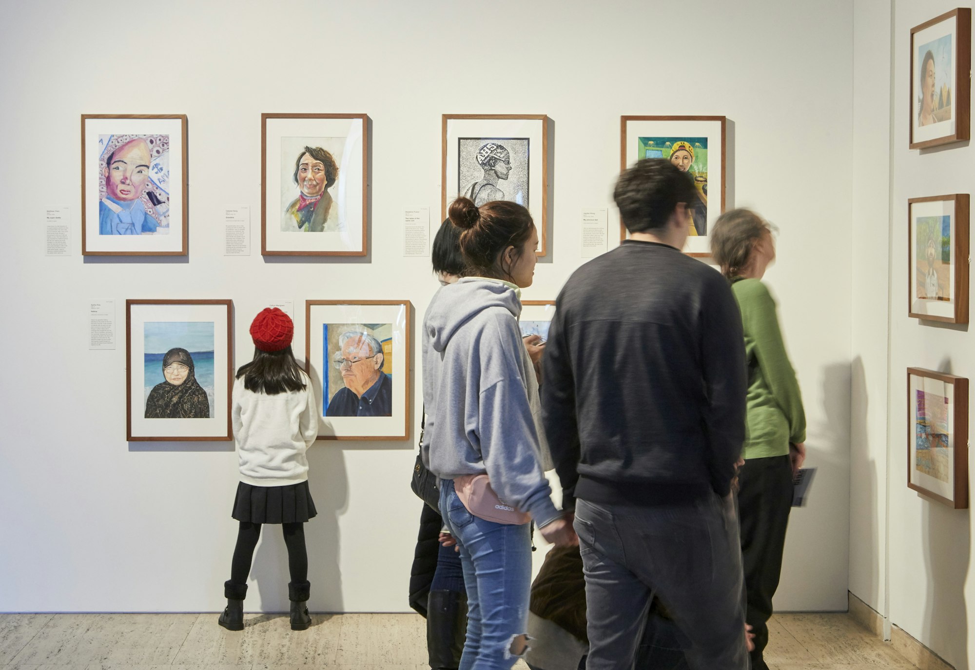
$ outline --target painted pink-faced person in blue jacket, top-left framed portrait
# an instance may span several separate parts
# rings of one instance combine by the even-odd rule
[[[134,138],[115,148],[102,169],[106,195],[98,203],[98,233],[143,235],[155,233],[159,221],[145,211],[142,193],[152,164],[149,144]]]

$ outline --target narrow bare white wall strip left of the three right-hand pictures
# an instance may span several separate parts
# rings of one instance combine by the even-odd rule
[[[849,589],[883,613],[887,511],[891,0],[853,5]]]

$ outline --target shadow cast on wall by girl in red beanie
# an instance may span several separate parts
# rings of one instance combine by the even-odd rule
[[[345,513],[349,482],[345,453],[333,443],[318,442],[308,450],[308,486],[318,516],[305,524],[308,547],[310,611],[344,611],[342,574],[338,567],[338,517]],[[288,550],[281,526],[264,526],[254,552],[251,577],[257,581],[262,611],[288,611]]]

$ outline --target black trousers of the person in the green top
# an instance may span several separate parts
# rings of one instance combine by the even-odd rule
[[[765,670],[772,596],[779,586],[782,550],[792,509],[792,461],[789,455],[752,458],[738,471],[741,553],[748,607],[745,620],[755,634],[752,668]]]

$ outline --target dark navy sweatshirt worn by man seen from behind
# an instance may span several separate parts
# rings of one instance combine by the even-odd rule
[[[741,315],[722,275],[627,240],[565,283],[542,410],[564,509],[726,495],[745,439]]]

